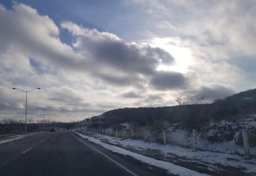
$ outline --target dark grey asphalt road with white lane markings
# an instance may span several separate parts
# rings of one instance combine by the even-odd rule
[[[151,169],[150,169],[151,168]],[[0,144],[0,175],[166,175],[68,131]]]

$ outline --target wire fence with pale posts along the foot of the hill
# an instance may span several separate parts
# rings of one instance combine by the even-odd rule
[[[96,128],[96,127],[86,127],[82,128],[82,131],[87,131],[90,133],[99,133],[104,134],[107,136],[113,136],[116,138],[121,139],[138,139],[143,140],[145,142],[154,142],[159,144],[178,144],[180,146],[190,147],[194,151],[198,150],[205,150],[205,151],[214,151],[213,147],[221,145],[224,146],[224,143],[204,143],[202,142],[202,139],[200,139],[200,136],[198,134],[198,131],[192,130],[191,133],[186,136],[185,138],[181,138],[180,141],[175,141],[171,137],[171,132],[168,130],[149,130],[147,128],[137,128],[137,129],[115,129],[112,128]],[[247,130],[241,130],[240,131],[241,138],[242,138],[242,146],[236,146],[237,149],[230,149],[234,152],[239,151],[240,154],[244,154],[246,159],[250,159],[252,157],[256,157],[256,147],[254,147],[252,150],[250,149],[250,143],[249,143],[249,137],[248,137],[248,131]],[[186,141],[186,144],[184,145],[184,141]],[[226,146],[227,148],[230,146]]]

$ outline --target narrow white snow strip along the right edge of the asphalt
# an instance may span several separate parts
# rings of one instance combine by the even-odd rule
[[[89,136],[85,136],[83,134],[77,133],[76,134],[80,135],[81,138],[88,139],[89,141],[100,144],[106,149],[109,149],[113,152],[117,152],[119,154],[125,155],[125,156],[131,156],[134,157],[134,159],[137,159],[141,162],[145,162],[150,165],[155,165],[157,167],[160,167],[162,169],[168,170],[168,173],[170,174],[177,174],[177,175],[208,175],[208,174],[201,174],[199,172],[196,172],[194,170],[186,169],[185,167],[181,167],[179,165],[171,164],[170,162],[165,162],[165,161],[159,161],[157,159],[153,159],[150,157],[142,156],[141,154],[137,154],[134,152],[127,151],[126,149],[122,149],[121,147],[116,147],[112,146],[106,143],[101,142],[99,139],[91,138]]]

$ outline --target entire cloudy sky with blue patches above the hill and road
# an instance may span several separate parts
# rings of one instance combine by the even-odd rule
[[[0,120],[78,121],[255,88],[256,2],[0,1]]]

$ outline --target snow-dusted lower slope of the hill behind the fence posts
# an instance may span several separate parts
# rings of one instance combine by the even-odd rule
[[[118,127],[118,130],[117,130]],[[191,130],[187,130],[181,123],[169,124],[165,126],[167,144],[175,144],[182,147],[193,148],[194,137]],[[89,130],[88,126],[81,126],[77,128],[79,131]],[[98,129],[102,133],[102,129]],[[105,134],[117,136],[120,138],[132,138],[131,130],[134,131],[135,139],[144,140],[144,130],[147,130],[147,141],[154,143],[163,143],[163,129],[152,129],[139,127],[129,123],[122,123],[112,128],[104,128]],[[249,118],[240,118],[235,121],[211,121],[205,123],[199,129],[195,130],[195,143],[196,149],[201,151],[216,151],[226,152],[229,154],[244,155],[244,144],[242,140],[241,130],[247,130],[249,134],[250,154],[256,157],[256,118],[251,116]],[[122,134],[124,133],[124,134]],[[137,136],[136,136],[137,134]],[[124,135],[124,136],[122,136]]]

